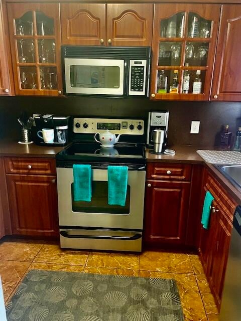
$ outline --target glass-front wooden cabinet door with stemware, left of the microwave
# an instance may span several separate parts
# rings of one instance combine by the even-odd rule
[[[8,4],[17,95],[61,95],[58,4]]]

